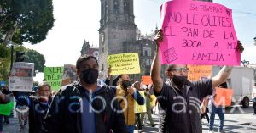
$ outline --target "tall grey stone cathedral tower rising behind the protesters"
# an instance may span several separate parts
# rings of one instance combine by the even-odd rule
[[[123,53],[123,42],[136,41],[133,0],[101,0],[100,70],[108,69],[108,54]]]

